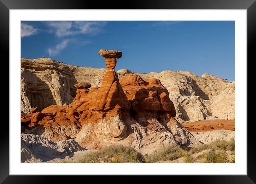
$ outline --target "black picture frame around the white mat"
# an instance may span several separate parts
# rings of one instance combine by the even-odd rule
[[[9,10],[11,9],[246,9],[247,10],[247,63],[255,62],[256,45],[256,1],[255,0],[130,0],[130,1],[89,1],[89,0],[0,0],[0,39],[1,53],[5,56],[5,68],[11,70],[9,61]],[[4,64],[4,63],[3,63]],[[2,65],[3,66],[3,65]],[[9,70],[6,69],[8,72]],[[248,72],[247,72],[248,73]],[[9,76],[9,74],[8,74]],[[9,80],[8,80],[9,82]],[[3,81],[5,91],[2,97],[9,95],[9,83]],[[10,95],[9,95],[10,98]],[[253,103],[253,102],[252,102]],[[9,104],[7,102],[6,104]],[[239,108],[239,107],[236,107]],[[9,116],[10,116],[9,111]],[[6,121],[6,120],[5,120]],[[247,123],[247,117],[245,122]],[[2,125],[3,126],[3,125]],[[175,179],[189,183],[255,183],[255,137],[253,131],[255,123],[247,124],[247,175],[193,175],[171,176]],[[0,144],[0,182],[3,183],[46,183],[53,181],[55,176],[9,175],[9,126],[1,131]],[[28,171],[29,173],[29,171]],[[81,177],[77,179],[82,179]],[[83,178],[88,176],[84,176]],[[58,177],[58,183],[66,183],[70,176]],[[105,178],[105,177],[104,177]],[[108,178],[108,177],[107,177]],[[107,180],[105,178],[105,180]],[[151,177],[148,177],[151,179]],[[83,179],[82,179],[83,180]],[[122,181],[122,180],[121,180]],[[144,180],[145,182],[145,180]]]

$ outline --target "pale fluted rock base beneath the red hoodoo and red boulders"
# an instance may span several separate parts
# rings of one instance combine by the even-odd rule
[[[107,145],[122,144],[150,154],[170,144],[197,147],[201,143],[175,119],[165,122],[167,131],[155,131],[142,126],[131,118],[111,117],[98,125],[87,123],[77,134],[75,141],[86,149],[101,149]]]

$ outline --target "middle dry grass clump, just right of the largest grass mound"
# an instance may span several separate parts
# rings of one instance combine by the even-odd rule
[[[175,160],[183,156],[183,151],[179,146],[170,145],[160,150],[155,150],[152,154],[146,156],[145,160],[148,163]]]

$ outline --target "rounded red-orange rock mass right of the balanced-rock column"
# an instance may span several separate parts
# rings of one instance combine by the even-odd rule
[[[135,112],[168,112],[169,117],[175,117],[176,111],[169,93],[158,79],[144,81],[136,74],[125,74],[120,79],[125,95],[132,103]]]

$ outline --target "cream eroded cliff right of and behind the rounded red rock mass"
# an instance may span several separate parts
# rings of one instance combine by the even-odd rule
[[[200,77],[191,72],[171,70],[136,74],[161,81],[174,103],[179,122],[204,120],[212,115],[220,119],[235,118],[235,81],[227,82],[210,74]]]

